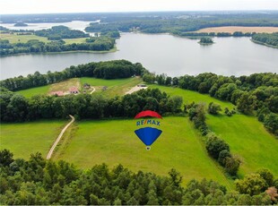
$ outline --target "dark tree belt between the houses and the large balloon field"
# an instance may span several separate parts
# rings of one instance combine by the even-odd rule
[[[161,90],[139,90],[124,97],[107,99],[102,95],[66,95],[64,97],[38,95],[30,99],[8,90],[2,90],[0,107],[2,122],[21,122],[47,118],[100,119],[134,117],[143,110],[160,114],[178,113],[182,98],[169,97]]]

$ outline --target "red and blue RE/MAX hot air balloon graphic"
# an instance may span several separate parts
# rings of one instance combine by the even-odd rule
[[[144,116],[152,116],[152,117],[156,117],[156,118],[162,118],[162,116],[160,114],[158,114],[157,112],[154,112],[151,110],[146,110],[146,111],[138,113],[135,116],[135,119],[138,119],[138,118],[141,118]],[[146,122],[147,121],[145,121],[144,123],[146,123]],[[139,137],[139,139],[146,145],[146,150],[151,150],[152,143],[155,142],[157,140],[157,138],[159,138],[162,131],[160,129],[147,126],[147,127],[143,127],[138,130],[135,130],[135,133]]]

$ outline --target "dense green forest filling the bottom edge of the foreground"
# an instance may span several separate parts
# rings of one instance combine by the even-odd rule
[[[278,179],[261,169],[236,181],[236,191],[212,180],[191,180],[174,168],[168,176],[105,164],[83,170],[64,160],[31,154],[13,159],[0,150],[0,203],[9,205],[269,205],[277,203]]]

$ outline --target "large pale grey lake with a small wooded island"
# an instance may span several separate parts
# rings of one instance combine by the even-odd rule
[[[248,75],[278,72],[278,49],[253,43],[249,38],[213,38],[210,46],[196,39],[168,34],[123,33],[117,39],[117,52],[105,54],[65,53],[4,56],[0,58],[1,79],[39,71],[62,71],[70,65],[126,59],[142,63],[154,73],[169,76],[217,73]]]

